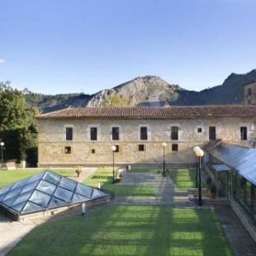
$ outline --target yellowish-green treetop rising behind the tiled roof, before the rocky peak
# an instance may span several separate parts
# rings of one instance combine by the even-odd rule
[[[135,102],[132,97],[121,94],[110,94],[102,101],[102,107],[133,107]]]

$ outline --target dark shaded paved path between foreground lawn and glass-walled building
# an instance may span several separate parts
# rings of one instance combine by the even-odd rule
[[[230,206],[215,206],[215,210],[235,255],[255,256],[256,243]]]

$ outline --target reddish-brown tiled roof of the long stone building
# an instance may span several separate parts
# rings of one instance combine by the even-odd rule
[[[256,117],[256,106],[69,107],[37,118],[187,119],[228,116]]]

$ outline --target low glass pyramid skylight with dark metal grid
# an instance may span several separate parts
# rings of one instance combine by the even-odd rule
[[[111,194],[49,170],[0,188],[0,206],[14,216],[104,197]]]

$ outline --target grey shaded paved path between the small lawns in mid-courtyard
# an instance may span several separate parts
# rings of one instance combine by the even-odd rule
[[[154,187],[156,195],[155,197],[117,197],[115,200],[116,204],[194,206],[194,202],[187,199],[187,192],[176,190],[171,178],[163,178],[159,173],[125,172],[124,178],[119,184],[151,185]]]

